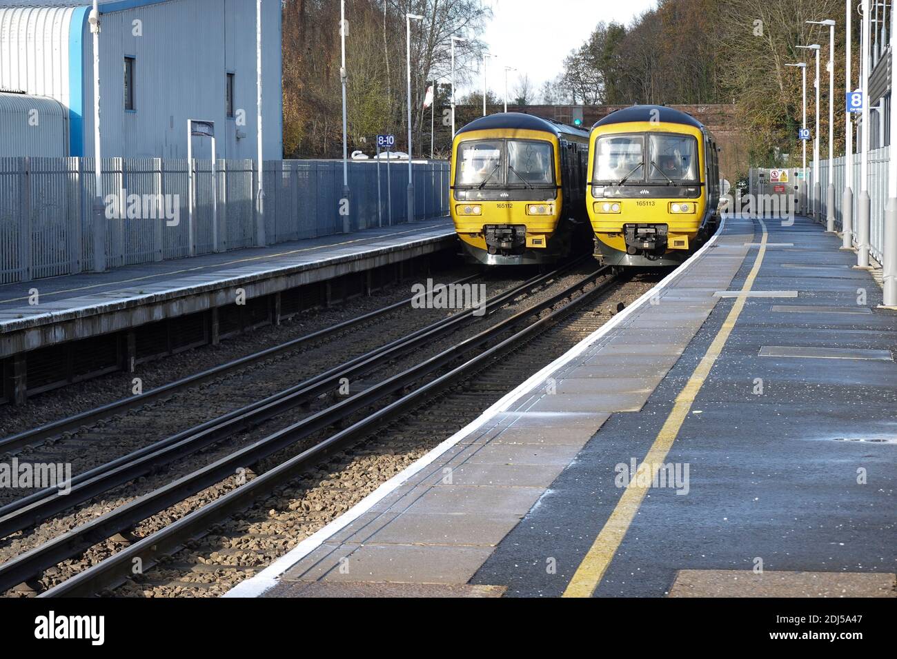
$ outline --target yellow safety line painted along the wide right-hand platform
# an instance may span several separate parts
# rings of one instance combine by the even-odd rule
[[[666,455],[673,446],[673,441],[692,410],[694,399],[697,397],[698,392],[701,391],[704,381],[710,375],[710,369],[716,363],[723,347],[726,345],[729,334],[732,334],[732,330],[735,328],[738,316],[741,315],[742,309],[745,308],[747,293],[753,287],[757,273],[760,272],[763,256],[766,254],[768,234],[766,224],[762,220],[760,223],[763,230],[760,252],[753,263],[751,273],[747,275],[741,293],[736,298],[735,305],[729,311],[726,322],[719,329],[718,334],[713,339],[713,343],[710,344],[710,348],[701,359],[701,363],[694,369],[692,377],[685,384],[683,390],[679,392],[679,395],[676,396],[672,412],[666,417],[663,428],[660,429],[658,437],[649,449],[648,455],[645,456],[644,461],[640,464],[637,471],[638,477],[636,475],[631,476],[629,485],[623,491],[623,496],[616,507],[614,507],[614,512],[608,517],[604,528],[601,529],[601,533],[598,533],[598,537],[592,543],[586,557],[582,559],[579,568],[577,568],[573,578],[570,579],[570,584],[567,585],[567,589],[563,593],[564,597],[592,596],[598,584],[601,583],[601,579],[604,578],[611,560],[614,559],[614,554],[620,548],[620,544],[623,542],[623,537],[629,530],[632,520],[638,514],[641,501],[645,498],[648,487],[640,486],[637,483],[654,481],[655,474],[658,473],[659,467],[666,460]],[[647,470],[650,470],[649,477],[645,474]]]

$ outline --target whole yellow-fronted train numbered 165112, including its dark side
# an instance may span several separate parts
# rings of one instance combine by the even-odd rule
[[[461,128],[451,158],[451,215],[468,260],[551,264],[592,249],[588,132],[510,112]]]

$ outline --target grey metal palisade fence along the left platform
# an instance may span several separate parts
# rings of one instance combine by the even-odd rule
[[[0,283],[91,269],[93,167],[90,158],[0,158]],[[109,268],[257,246],[259,226],[271,245],[408,218],[407,161],[351,162],[349,204],[341,199],[342,162],[266,161],[264,225],[255,161],[217,161],[217,204],[212,161],[193,160],[193,168],[191,217],[187,160],[103,160]],[[448,162],[414,162],[414,190],[416,219],[448,214]]]

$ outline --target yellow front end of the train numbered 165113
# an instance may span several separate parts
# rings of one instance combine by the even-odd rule
[[[658,186],[644,181],[627,181],[624,186],[596,186],[594,182],[597,159],[588,165],[588,216],[598,247],[606,264],[653,266],[678,264],[693,250],[701,232],[707,210],[707,186],[701,185],[705,158],[701,131],[692,126],[665,123],[625,123],[596,128],[590,138],[590,152],[597,153],[597,141],[605,135],[665,134],[689,135],[696,141],[699,180],[682,186]],[[646,160],[648,156],[645,156]],[[645,169],[659,169],[646,162]],[[624,168],[625,169],[625,168]],[[663,171],[654,174],[664,176]],[[688,190],[686,195],[666,196],[666,190]],[[606,195],[597,191],[609,190]],[[628,233],[627,233],[628,230]],[[665,242],[657,236],[664,234]],[[652,242],[654,241],[654,242]],[[652,247],[661,244],[662,247]]]

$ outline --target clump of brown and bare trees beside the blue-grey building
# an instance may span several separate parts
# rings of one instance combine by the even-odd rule
[[[291,157],[336,157],[342,150],[339,2],[283,0],[283,136]],[[447,79],[450,40],[457,45],[457,78],[472,74],[482,44],[477,40],[490,15],[482,0],[346,0],[349,138],[364,148],[367,137],[407,131],[405,13],[424,16],[412,23],[413,128],[430,126],[422,107],[427,85]],[[401,63],[401,65],[398,65]],[[442,117],[437,118],[437,125]],[[416,151],[416,149],[415,149]]]

